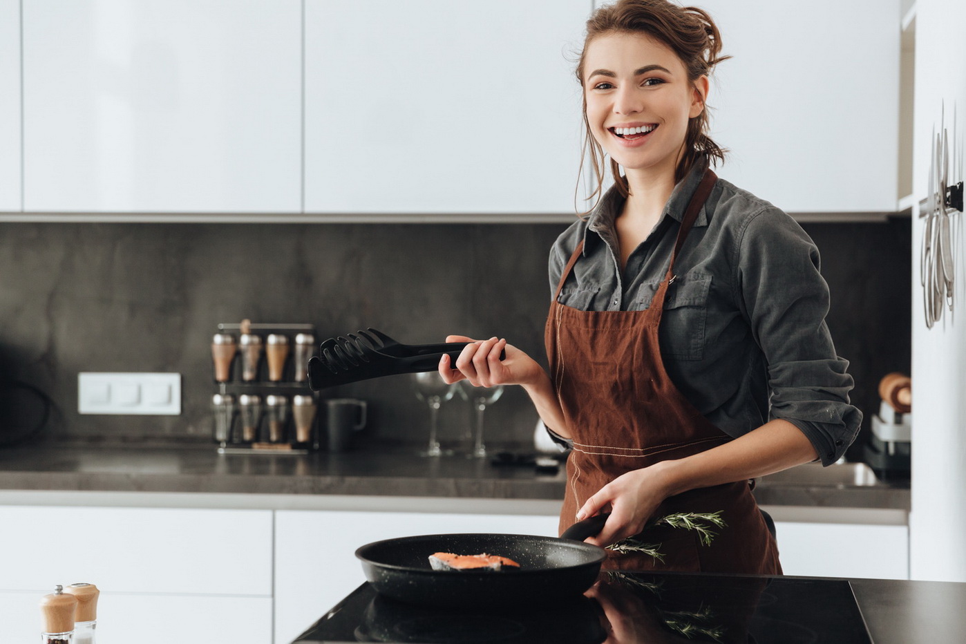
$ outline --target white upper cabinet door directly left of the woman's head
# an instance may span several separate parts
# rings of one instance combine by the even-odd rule
[[[589,10],[307,0],[305,210],[575,212]]]

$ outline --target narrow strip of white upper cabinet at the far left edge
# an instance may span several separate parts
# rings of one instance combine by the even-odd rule
[[[0,0],[0,211],[20,210],[20,0]]]

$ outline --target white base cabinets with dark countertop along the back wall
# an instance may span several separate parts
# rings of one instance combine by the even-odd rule
[[[0,624],[23,622],[48,586],[86,580],[102,592],[102,644],[149,605],[180,614],[197,641],[226,635],[205,630],[217,623],[234,625],[240,644],[281,644],[363,581],[353,553],[365,543],[556,535],[562,469],[423,459],[416,449],[219,456],[210,443],[155,441],[0,450],[0,522],[20,555],[0,584]],[[851,466],[790,472],[754,490],[777,521],[786,573],[907,576],[907,484]],[[70,548],[66,527],[46,527],[71,525],[88,529],[71,529]],[[0,632],[0,641],[34,634]]]

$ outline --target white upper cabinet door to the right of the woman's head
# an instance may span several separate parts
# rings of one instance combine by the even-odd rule
[[[734,56],[709,89],[719,176],[788,212],[895,211],[899,0],[700,7]]]

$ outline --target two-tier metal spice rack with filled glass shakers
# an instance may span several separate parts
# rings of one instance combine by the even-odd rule
[[[304,368],[317,350],[316,337],[312,324],[217,324],[212,410],[218,454],[302,455],[319,449],[320,397],[309,388]],[[285,342],[270,344],[281,339]]]

